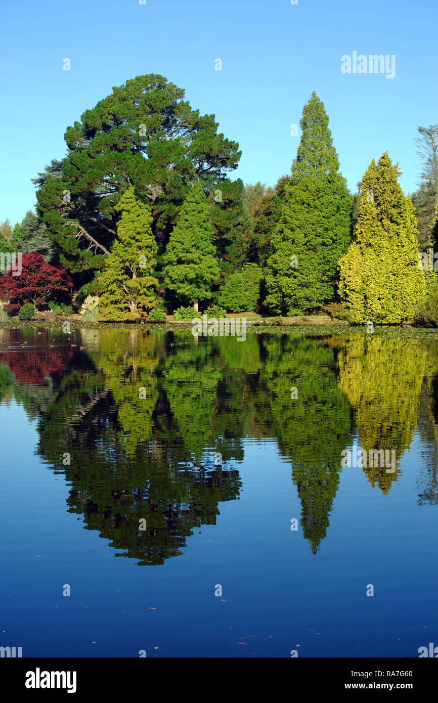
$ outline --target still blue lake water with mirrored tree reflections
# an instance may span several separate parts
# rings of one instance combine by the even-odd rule
[[[0,342],[0,645],[438,645],[430,335],[1,329]],[[346,449],[394,450],[396,465],[342,467]]]

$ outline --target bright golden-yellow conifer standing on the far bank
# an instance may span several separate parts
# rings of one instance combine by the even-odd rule
[[[401,191],[397,167],[387,152],[369,165],[354,241],[340,260],[340,295],[357,323],[400,323],[425,296],[415,209]]]

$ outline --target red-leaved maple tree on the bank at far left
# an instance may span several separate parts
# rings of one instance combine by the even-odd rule
[[[22,254],[20,276],[8,271],[0,276],[0,298],[8,298],[6,312],[13,312],[24,303],[36,307],[71,295],[72,279],[63,266],[46,264],[42,254]]]

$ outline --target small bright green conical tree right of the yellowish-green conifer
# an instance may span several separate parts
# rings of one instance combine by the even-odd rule
[[[165,284],[183,303],[193,304],[212,297],[211,288],[219,281],[219,265],[212,245],[212,226],[199,182],[189,191],[181,207],[179,221],[165,252]]]

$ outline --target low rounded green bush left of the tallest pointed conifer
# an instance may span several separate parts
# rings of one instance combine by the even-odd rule
[[[241,273],[233,273],[225,279],[219,293],[219,304],[229,312],[255,310],[262,278],[262,270],[257,264],[245,264]]]

